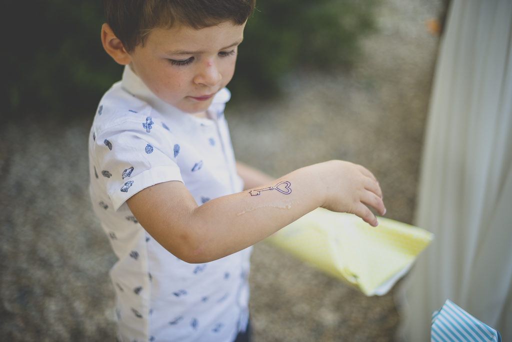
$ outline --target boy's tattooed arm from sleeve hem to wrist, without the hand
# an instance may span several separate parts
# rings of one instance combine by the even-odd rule
[[[164,248],[189,263],[217,260],[247,248],[323,204],[322,181],[311,166],[201,206],[192,203],[191,196],[173,200],[176,189],[172,188],[180,186],[180,182],[157,184],[127,203]],[[144,204],[151,202],[160,207],[150,215]]]

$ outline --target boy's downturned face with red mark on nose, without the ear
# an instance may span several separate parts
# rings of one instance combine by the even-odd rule
[[[208,109],[233,77],[245,25],[154,29],[130,53],[131,66],[160,99],[185,113]]]

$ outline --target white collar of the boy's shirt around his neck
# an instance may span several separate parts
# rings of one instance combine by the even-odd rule
[[[132,70],[132,68],[127,65],[124,67],[123,78],[121,81],[121,87],[134,95],[135,97],[147,102],[151,105],[157,112],[162,115],[172,115],[172,116],[182,116],[185,115],[189,118],[199,119],[200,121],[209,119],[200,119],[195,116],[188,115],[177,109],[175,106],[168,104],[161,100],[158,96],[156,96],[149,88],[147,88],[146,84],[140,79],[140,77]],[[231,98],[231,93],[223,88],[217,94],[215,94],[214,99],[211,101],[211,105],[208,107],[208,112],[210,112],[210,117],[217,120],[224,113],[224,106],[227,101]]]

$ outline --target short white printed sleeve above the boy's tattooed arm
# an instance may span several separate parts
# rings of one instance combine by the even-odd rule
[[[158,118],[130,118],[97,134],[93,155],[114,210],[138,191],[168,181],[183,182],[176,164],[176,137]]]

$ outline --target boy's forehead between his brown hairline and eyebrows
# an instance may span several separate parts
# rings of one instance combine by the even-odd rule
[[[224,49],[242,42],[244,25],[221,23],[201,29],[175,24],[170,28],[155,28],[146,39],[148,45],[168,54],[201,53],[209,49]]]

